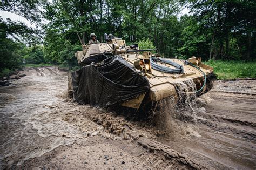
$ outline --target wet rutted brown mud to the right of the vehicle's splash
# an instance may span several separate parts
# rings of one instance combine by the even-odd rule
[[[188,112],[194,117],[192,122],[181,120],[179,126],[184,130],[185,125],[187,133],[191,128],[190,137],[158,140],[208,167],[255,169],[255,83],[255,80],[217,81],[210,93],[187,102],[182,113],[174,109],[176,114]]]

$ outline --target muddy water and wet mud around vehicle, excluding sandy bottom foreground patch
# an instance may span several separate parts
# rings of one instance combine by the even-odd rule
[[[160,128],[72,103],[65,97],[66,73],[54,67],[23,73],[27,76],[0,87],[2,168],[95,135],[130,142],[140,137],[160,141],[209,168],[256,168],[253,80],[219,81],[212,92],[196,100],[191,100],[193,84],[180,84],[179,106],[173,105],[173,98],[160,103],[163,107],[156,114],[166,118],[160,119],[165,120]]]

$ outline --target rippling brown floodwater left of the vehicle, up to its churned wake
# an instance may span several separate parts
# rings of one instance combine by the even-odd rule
[[[100,108],[72,103],[65,94],[66,73],[46,74],[48,70],[53,69],[25,70],[28,76],[0,88],[2,166],[20,165],[60,145],[97,134],[111,139],[151,137],[143,127],[133,128],[123,118],[113,118]]]

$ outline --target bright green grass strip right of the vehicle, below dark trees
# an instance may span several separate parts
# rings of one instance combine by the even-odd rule
[[[204,63],[214,68],[218,79],[256,78],[256,61],[210,60]]]

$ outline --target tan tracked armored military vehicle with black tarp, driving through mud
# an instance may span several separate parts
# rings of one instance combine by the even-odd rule
[[[125,40],[105,34],[106,43],[83,44],[75,56],[82,69],[69,75],[69,94],[80,104],[120,105],[141,110],[161,99],[177,96],[176,84],[193,80],[191,93],[212,88],[213,67],[200,57],[164,58],[157,49],[139,50]]]

